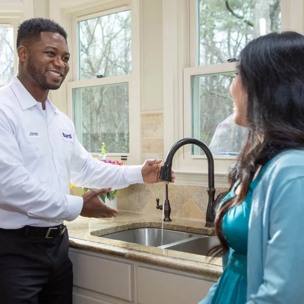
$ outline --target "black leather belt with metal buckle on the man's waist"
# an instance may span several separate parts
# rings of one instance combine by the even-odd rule
[[[24,226],[20,229],[1,229],[9,233],[23,234],[31,237],[44,237],[46,239],[52,239],[60,237],[64,234],[66,226],[61,224],[53,227],[35,227],[35,226]]]

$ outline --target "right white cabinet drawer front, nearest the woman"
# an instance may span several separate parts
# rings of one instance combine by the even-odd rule
[[[137,268],[138,304],[198,304],[213,284],[204,279]]]

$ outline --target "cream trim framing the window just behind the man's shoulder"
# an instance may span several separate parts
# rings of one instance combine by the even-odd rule
[[[70,119],[73,117],[72,89],[89,87],[96,85],[128,83],[129,85],[129,147],[127,154],[107,153],[108,159],[118,159],[121,156],[127,156],[126,165],[138,165],[141,162],[140,151],[140,0],[119,0],[119,1],[95,1],[79,4],[75,2],[72,7],[63,8],[63,14],[67,14],[68,35],[70,40],[71,64],[70,73],[67,79],[67,115]],[[98,4],[98,6],[96,6]],[[77,22],[97,16],[107,15],[109,13],[119,12],[131,9],[131,39],[132,39],[132,73],[129,75],[119,75],[113,77],[78,80],[78,62],[77,62]],[[130,102],[131,101],[131,102]],[[98,157],[98,153],[91,153]]]

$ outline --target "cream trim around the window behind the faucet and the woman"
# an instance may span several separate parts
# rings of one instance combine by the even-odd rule
[[[281,0],[281,29],[303,32],[302,0]],[[164,58],[164,155],[181,138],[191,136],[191,77],[231,71],[233,63],[198,66],[197,0],[163,2]],[[206,70],[207,68],[207,70]],[[226,69],[226,70],[225,70]],[[190,145],[177,151],[173,160],[176,184],[208,185],[207,159],[191,157]],[[235,159],[214,158],[215,185],[225,187],[227,169]]]

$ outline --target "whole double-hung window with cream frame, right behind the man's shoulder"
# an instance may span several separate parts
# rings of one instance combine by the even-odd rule
[[[105,143],[107,157],[126,164],[140,162],[139,14],[132,4],[73,18],[67,84],[79,141],[93,155]]]

